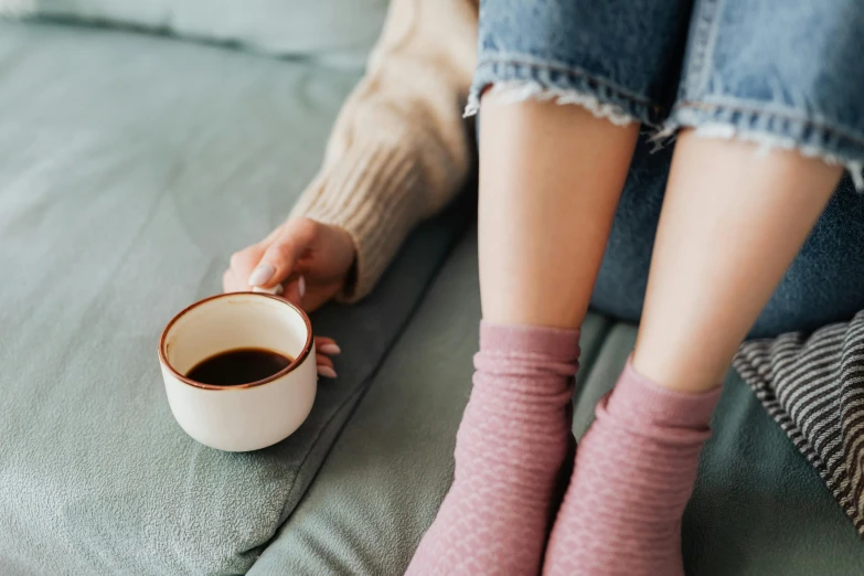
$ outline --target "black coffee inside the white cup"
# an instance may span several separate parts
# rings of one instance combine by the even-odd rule
[[[236,386],[273,376],[292,361],[263,348],[237,348],[195,364],[186,377],[202,384]]]

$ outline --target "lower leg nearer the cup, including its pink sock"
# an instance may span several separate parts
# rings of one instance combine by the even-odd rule
[[[572,376],[638,126],[483,100],[483,324],[456,474],[408,574],[536,575],[572,438]]]

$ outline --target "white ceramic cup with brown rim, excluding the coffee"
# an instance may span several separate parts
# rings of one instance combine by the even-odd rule
[[[234,386],[185,376],[203,360],[238,348],[271,350],[294,361],[269,377]],[[193,303],[162,331],[159,362],[178,424],[211,448],[243,452],[284,440],[314,402],[312,327],[302,310],[278,296],[235,292]]]

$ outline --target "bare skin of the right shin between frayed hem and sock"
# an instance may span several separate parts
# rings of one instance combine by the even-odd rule
[[[717,386],[842,169],[683,134],[660,218],[634,367],[661,386]]]

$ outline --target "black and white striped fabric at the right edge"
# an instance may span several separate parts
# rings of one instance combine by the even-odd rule
[[[746,342],[735,369],[864,536],[864,311],[810,337]]]

